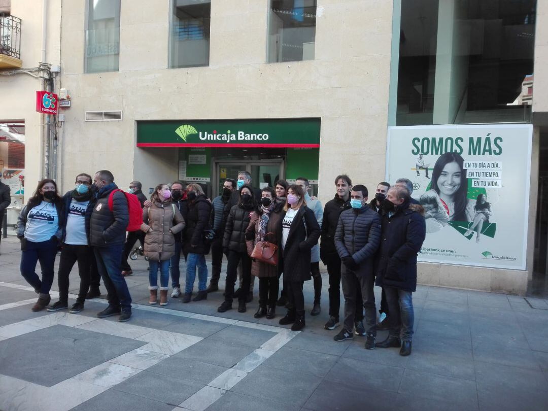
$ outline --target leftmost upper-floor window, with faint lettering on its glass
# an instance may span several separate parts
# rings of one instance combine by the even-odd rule
[[[120,0],[88,0],[87,10],[84,71],[118,71]]]

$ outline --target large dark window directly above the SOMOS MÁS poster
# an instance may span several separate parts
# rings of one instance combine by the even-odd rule
[[[389,124],[529,122],[520,96],[535,9],[535,0],[395,2]]]

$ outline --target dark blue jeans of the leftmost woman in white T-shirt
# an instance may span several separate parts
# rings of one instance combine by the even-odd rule
[[[50,238],[48,241],[39,243],[27,240],[26,243],[26,249],[21,252],[21,275],[35,290],[42,294],[49,294],[53,284],[57,238]],[[42,279],[35,271],[38,261],[42,269]]]

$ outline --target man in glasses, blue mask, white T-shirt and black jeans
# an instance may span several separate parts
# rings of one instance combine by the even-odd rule
[[[62,198],[64,204],[63,224],[61,225],[63,248],[57,273],[59,301],[47,307],[48,311],[68,309],[68,288],[70,286],[68,277],[76,262],[78,262],[80,288],[76,302],[68,312],[78,313],[84,309],[95,259],[93,249],[89,246],[89,223],[95,205],[95,193],[90,188],[91,185],[92,176],[85,173],[78,174],[75,189],[66,192]]]

